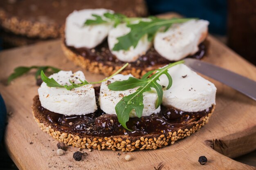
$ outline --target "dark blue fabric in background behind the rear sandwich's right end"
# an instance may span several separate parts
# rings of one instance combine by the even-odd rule
[[[227,29],[227,0],[146,0],[151,15],[177,12],[210,22],[209,32],[224,35]]]

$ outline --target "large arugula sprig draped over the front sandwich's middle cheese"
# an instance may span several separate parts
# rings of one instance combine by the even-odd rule
[[[108,88],[112,91],[125,91],[130,88],[139,87],[135,93],[132,93],[126,97],[123,97],[120,102],[117,103],[115,110],[117,113],[117,118],[119,123],[126,128],[127,130],[130,130],[126,126],[126,122],[129,120],[130,112],[134,109],[136,112],[136,115],[138,117],[141,117],[144,104],[143,104],[143,93],[147,91],[151,91],[151,88],[155,88],[157,92],[157,102],[155,108],[158,108],[162,103],[163,98],[163,89],[160,84],[157,83],[157,80],[159,80],[159,76],[162,74],[165,74],[168,78],[168,86],[167,89],[169,89],[172,85],[172,78],[171,75],[169,75],[168,68],[171,68],[172,66],[175,66],[177,64],[184,63],[184,61],[178,61],[175,63],[171,63],[168,66],[164,68],[159,68],[155,71],[157,73],[153,74],[151,77],[148,77],[151,75],[154,71],[149,71],[146,73],[141,79],[137,79],[135,77],[129,77],[129,79],[124,81],[116,81],[108,85]]]

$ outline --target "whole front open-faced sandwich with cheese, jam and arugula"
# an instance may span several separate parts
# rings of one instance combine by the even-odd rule
[[[181,63],[141,79],[117,74],[122,67],[90,83],[81,71],[49,78],[41,72],[34,118],[43,131],[74,147],[133,151],[174,144],[204,126],[215,108],[214,84]]]

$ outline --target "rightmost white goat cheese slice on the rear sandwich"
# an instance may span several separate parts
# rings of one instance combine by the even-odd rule
[[[208,33],[209,22],[189,20],[182,24],[173,24],[166,32],[155,35],[155,50],[170,61],[178,61],[198,51],[198,44],[204,41]]]

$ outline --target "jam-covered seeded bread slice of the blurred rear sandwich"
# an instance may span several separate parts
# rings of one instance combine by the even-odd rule
[[[101,47],[103,46],[103,47]],[[209,46],[209,42],[205,40],[201,44],[199,44],[199,51],[195,53],[194,55],[190,56],[197,59],[202,59],[207,53],[207,47]],[[103,42],[95,49],[91,49],[93,55],[99,56],[101,58],[100,61],[92,60],[92,57],[86,57],[82,56],[82,51],[79,49],[75,49],[74,47],[67,46],[65,44],[65,40],[62,40],[61,47],[63,49],[64,54],[66,57],[74,62],[75,65],[81,66],[85,70],[90,71],[91,73],[97,73],[97,74],[103,74],[105,76],[110,76],[116,71],[118,71],[126,62],[117,61],[114,55],[112,55],[108,49],[108,45],[106,42]],[[106,54],[101,54],[102,49],[106,49]],[[83,49],[82,49],[83,50]],[[104,52],[104,51],[103,51]],[[113,60],[102,60],[104,59],[104,56],[111,55]],[[153,55],[157,57],[156,61],[150,61],[153,58]],[[146,60],[149,61],[142,61],[143,57],[146,57]],[[141,78],[145,73],[151,70],[155,70],[157,68],[160,68],[162,66],[165,66],[166,64],[171,63],[171,61],[166,60],[164,57],[159,55],[154,48],[151,48],[146,52],[144,56],[141,56],[135,63],[130,63],[123,71],[122,74],[128,75],[132,74],[134,77]],[[148,63],[154,62],[153,65],[148,65]]]

